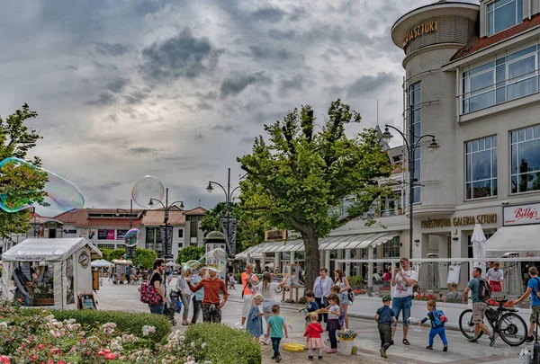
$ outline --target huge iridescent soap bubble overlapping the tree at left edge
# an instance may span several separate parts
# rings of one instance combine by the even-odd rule
[[[49,209],[67,211],[70,209],[82,209],[85,206],[85,198],[73,182],[22,159],[9,157],[0,162],[0,178],[7,178],[7,181],[5,181],[7,186],[4,186],[0,191],[0,209],[4,209],[6,212],[16,212],[29,208],[32,205],[31,194],[36,192],[24,193],[10,188],[9,176],[15,173],[23,173],[23,175],[41,173],[49,179],[43,188],[43,191],[46,192],[43,202],[49,205]]]

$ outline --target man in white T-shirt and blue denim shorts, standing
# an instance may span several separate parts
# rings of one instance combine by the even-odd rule
[[[396,315],[396,320],[400,319],[400,312],[403,311],[403,344],[410,345],[407,340],[409,333],[410,306],[412,306],[412,286],[418,280],[417,272],[410,269],[408,258],[400,259],[401,268],[395,269],[392,278],[392,287],[395,287],[392,299],[392,311]],[[392,324],[392,343],[396,333],[396,324]]]

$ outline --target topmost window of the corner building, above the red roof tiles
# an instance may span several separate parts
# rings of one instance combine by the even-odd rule
[[[488,35],[523,21],[523,0],[497,0],[488,5]]]

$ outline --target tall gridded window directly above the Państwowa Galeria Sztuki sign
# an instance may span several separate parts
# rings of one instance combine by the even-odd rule
[[[497,196],[497,137],[468,141],[465,162],[466,200]]]

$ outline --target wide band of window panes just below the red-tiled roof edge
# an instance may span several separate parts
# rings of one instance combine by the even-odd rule
[[[534,45],[464,71],[462,112],[481,110],[537,93],[537,50]]]

